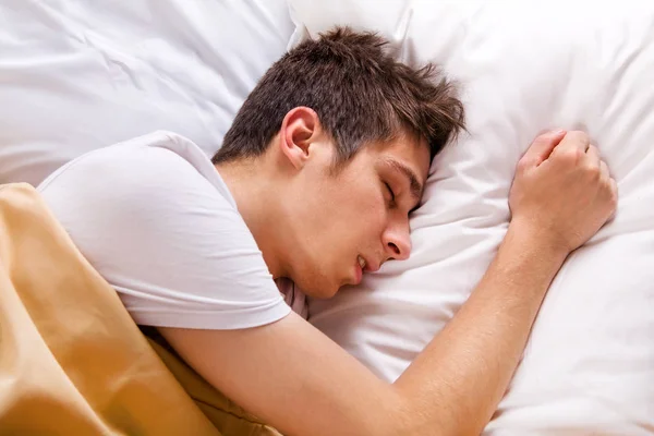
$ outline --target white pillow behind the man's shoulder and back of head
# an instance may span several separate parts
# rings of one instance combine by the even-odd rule
[[[284,0],[0,2],[0,183],[159,129],[211,155],[292,32]]]

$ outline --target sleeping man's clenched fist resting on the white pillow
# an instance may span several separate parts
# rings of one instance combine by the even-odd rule
[[[518,162],[509,195],[511,225],[567,253],[593,237],[616,209],[616,181],[589,135],[549,132]]]

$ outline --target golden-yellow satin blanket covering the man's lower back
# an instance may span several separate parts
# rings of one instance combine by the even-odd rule
[[[0,186],[0,435],[279,435],[146,338],[36,191]]]

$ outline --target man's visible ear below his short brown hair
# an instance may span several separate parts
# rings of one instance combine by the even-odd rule
[[[300,106],[291,109],[279,131],[281,153],[296,169],[308,159],[310,147],[320,134],[320,120],[311,108]]]

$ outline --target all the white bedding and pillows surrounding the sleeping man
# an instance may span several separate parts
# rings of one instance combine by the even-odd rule
[[[654,434],[654,5],[640,2],[5,0],[0,183],[39,183],[158,129],[213,154],[257,78],[336,24],[375,29],[458,81],[468,132],[436,159],[414,251],[310,320],[393,380],[456,314],[509,218],[514,165],[548,128],[586,130],[619,186],[569,257],[487,435]]]

